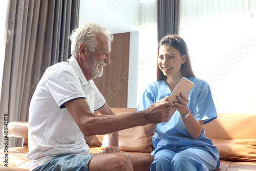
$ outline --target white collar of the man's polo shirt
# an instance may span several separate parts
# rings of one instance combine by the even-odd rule
[[[74,56],[71,56],[68,59],[68,62],[71,63],[71,65],[76,69],[76,72],[78,73],[78,76],[79,76],[79,79],[80,79],[81,83],[83,85],[88,85],[88,86],[85,87],[85,89],[87,89],[85,91],[89,90],[91,92],[90,89],[93,89],[93,87],[91,85],[91,82],[87,81],[86,77],[83,75],[82,70],[81,70],[76,58]]]

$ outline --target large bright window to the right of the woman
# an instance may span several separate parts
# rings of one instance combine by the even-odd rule
[[[218,113],[255,114],[255,1],[181,1],[180,36]]]

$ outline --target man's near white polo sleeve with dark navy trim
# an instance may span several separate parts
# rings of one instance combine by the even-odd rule
[[[68,101],[86,98],[79,81],[75,69],[68,64],[60,63],[53,69],[47,80],[47,89],[60,108],[65,108],[63,104]]]

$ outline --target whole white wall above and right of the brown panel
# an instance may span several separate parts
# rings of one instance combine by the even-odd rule
[[[138,61],[139,61],[139,20],[138,0],[81,0],[79,25],[94,22],[113,34],[131,32],[128,108],[137,108]]]

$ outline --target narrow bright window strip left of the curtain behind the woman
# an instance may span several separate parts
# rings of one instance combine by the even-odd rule
[[[156,81],[157,1],[141,1],[139,28],[137,106],[146,86]]]

